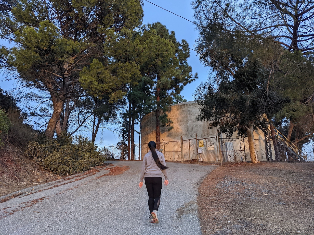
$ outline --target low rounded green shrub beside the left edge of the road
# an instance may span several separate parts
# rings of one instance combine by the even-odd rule
[[[97,147],[82,136],[64,136],[45,144],[30,142],[26,152],[43,168],[58,175],[72,175],[103,165],[104,156]]]

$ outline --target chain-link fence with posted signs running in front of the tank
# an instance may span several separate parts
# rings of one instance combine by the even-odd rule
[[[275,160],[273,141],[265,139],[254,140],[255,151],[259,161]],[[160,152],[166,161],[195,162],[195,163],[219,163],[222,162],[250,162],[250,149],[247,138],[218,138],[218,135],[206,138],[193,138],[175,141],[160,142]],[[307,161],[314,160],[314,146],[303,145],[303,158]],[[148,153],[148,142],[120,146],[105,146],[103,154],[107,159],[130,159],[141,160]],[[133,153],[133,154],[132,154]],[[290,160],[283,146],[279,146],[279,159]]]

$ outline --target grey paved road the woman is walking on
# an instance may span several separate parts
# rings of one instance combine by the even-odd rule
[[[160,223],[151,224],[145,185],[142,189],[138,187],[142,162],[110,163],[115,166],[33,191],[27,189],[33,193],[1,203],[0,234],[201,234],[197,187],[215,166],[167,163],[169,185],[163,186],[161,192]],[[108,168],[122,166],[129,170],[119,175],[105,175],[110,172]]]

